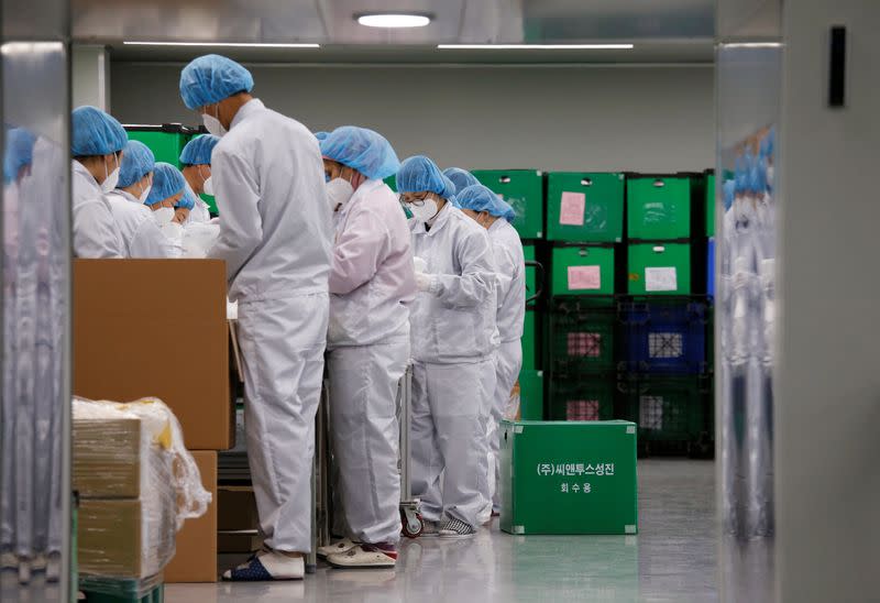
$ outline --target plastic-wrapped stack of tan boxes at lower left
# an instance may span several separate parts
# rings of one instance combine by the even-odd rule
[[[155,398],[74,401],[74,487],[79,570],[107,594],[120,583],[148,590],[184,520],[210,502],[179,424]]]

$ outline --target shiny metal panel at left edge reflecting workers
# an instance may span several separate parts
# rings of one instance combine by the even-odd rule
[[[0,552],[29,601],[68,574],[68,73],[63,42],[2,44]]]

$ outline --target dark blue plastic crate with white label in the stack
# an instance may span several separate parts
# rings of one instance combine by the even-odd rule
[[[636,299],[620,304],[624,369],[637,373],[700,374],[706,371],[705,302]]]

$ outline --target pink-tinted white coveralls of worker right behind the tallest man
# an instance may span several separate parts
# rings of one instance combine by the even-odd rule
[[[400,538],[397,385],[409,360],[416,295],[409,228],[382,180],[337,211],[330,273],[330,429],[349,536]]]

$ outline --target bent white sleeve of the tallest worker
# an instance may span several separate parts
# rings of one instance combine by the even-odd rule
[[[232,282],[263,240],[263,220],[257,207],[260,190],[254,166],[243,157],[215,150],[211,165],[217,209],[223,219],[220,237],[208,250],[208,257],[226,260],[227,279]]]

